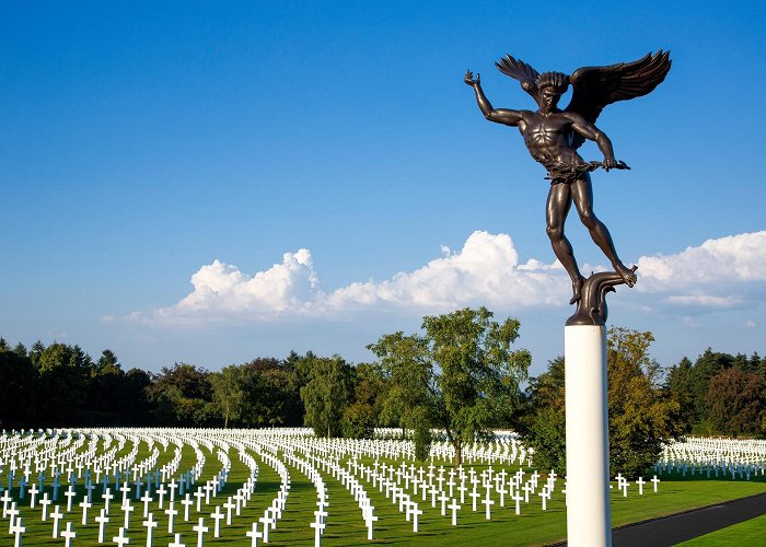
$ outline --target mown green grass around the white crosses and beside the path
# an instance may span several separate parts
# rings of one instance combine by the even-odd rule
[[[125,452],[128,450],[129,447],[126,445]],[[169,445],[167,450],[167,453],[161,454],[160,465],[172,457],[174,445]],[[214,453],[209,453],[207,449],[201,450],[206,454],[206,465],[201,474],[201,484],[204,484],[206,479],[211,478],[220,470],[221,465]],[[147,446],[142,443],[138,459],[140,461],[148,455]],[[181,470],[185,470],[195,464],[195,454],[189,446],[185,447],[182,455]],[[248,476],[248,469],[240,463],[235,450],[230,451],[230,457],[232,468],[229,481],[224,490],[212,500],[214,504],[223,503],[227,497],[232,496]],[[213,521],[210,519],[210,513],[214,509],[212,504],[207,508],[204,507],[199,514],[193,508],[189,522],[183,522],[183,507],[176,502],[176,509],[179,510],[179,514],[176,516],[175,532],[182,534],[183,542],[186,545],[196,545],[197,534],[192,527],[197,524],[199,516],[205,517],[205,525],[210,528],[210,532],[206,535],[207,545],[249,545],[249,539],[245,536],[245,532],[251,529],[252,522],[264,515],[265,509],[271,504],[271,500],[277,496],[280,487],[280,477],[277,472],[257,455],[255,457],[259,465],[255,493],[247,508],[243,510],[242,515],[234,517],[232,526],[225,526],[222,523],[220,538],[213,538]],[[486,466],[477,465],[474,467],[478,473],[486,468]],[[445,465],[445,468],[449,472],[448,465]],[[498,466],[494,466],[494,468],[499,470]],[[314,520],[313,511],[316,509],[316,491],[309,478],[298,468],[288,466],[288,469],[291,479],[290,493],[282,519],[278,522],[277,529],[270,534],[270,545],[313,545],[314,529],[309,524]],[[508,468],[511,474],[515,473],[518,467]],[[322,538],[323,545],[358,546],[369,543],[385,545],[416,544],[418,546],[440,547],[445,545],[483,547],[494,545],[545,545],[562,540],[566,536],[566,508],[564,497],[560,493],[560,489],[564,487],[561,480],[558,481],[557,490],[548,502],[547,511],[542,510],[539,497],[534,496],[530,504],[522,504],[522,514],[515,515],[512,500],[507,499],[506,507],[500,508],[498,497],[494,494],[496,505],[492,508],[491,520],[487,521],[484,505],[479,504],[478,511],[473,512],[471,500],[466,498],[466,503],[459,511],[457,526],[451,525],[449,511],[446,516],[442,516],[439,505],[436,509],[431,508],[430,497],[428,501],[423,502],[420,501],[420,496],[418,496],[420,509],[423,510],[418,534],[413,533],[411,522],[405,520],[404,514],[399,513],[397,505],[394,505],[391,500],[386,499],[384,493],[381,493],[378,488],[373,488],[371,484],[365,484],[365,490],[372,504],[375,507],[375,514],[379,516],[379,521],[374,524],[374,539],[368,542],[367,527],[362,521],[361,511],[357,502],[338,480],[335,480],[329,474],[323,473],[322,475],[329,492],[330,503],[329,514],[326,520],[327,528]],[[82,486],[82,482],[80,482],[77,503],[82,500],[84,493]],[[612,524],[613,526],[619,526],[764,491],[766,491],[766,481],[764,481],[763,477],[745,481],[723,478],[708,480],[701,477],[674,476],[662,478],[658,493],[654,493],[652,485],[648,484],[645,486],[645,494],[638,496],[637,487],[631,485],[627,498],[624,498],[622,491],[615,488],[611,494]],[[119,500],[121,500],[121,494],[113,500],[113,507],[118,507]],[[94,519],[103,507],[101,486],[94,490],[93,501],[94,507],[89,511],[89,524],[86,526],[83,526],[80,522],[81,510],[77,504],[72,507],[72,512],[61,522],[61,529],[65,528],[67,521],[73,523],[73,528],[78,532],[74,545],[98,545],[96,542],[98,527]],[[62,509],[66,509],[66,499],[61,497],[61,492],[59,493],[58,503],[63,505]],[[130,519],[128,532],[131,538],[130,545],[144,545],[146,528],[141,525],[142,521],[144,521],[142,516],[143,503],[134,500],[132,496],[131,503],[136,510]],[[61,538],[54,539],[51,537],[51,521],[40,521],[42,511],[39,507],[30,509],[28,498],[23,504],[22,515],[27,528],[23,537],[24,545],[62,545]],[[154,520],[159,522],[159,526],[154,529],[154,545],[164,546],[173,537],[167,533],[167,516],[164,512],[159,511],[155,504],[156,500],[152,510]],[[50,510],[53,510],[53,505]],[[763,519],[757,521],[732,526],[717,534],[724,534],[720,537],[726,538],[727,542],[751,544],[751,540],[761,538],[757,543],[764,544],[766,542],[763,540],[763,534],[766,534],[766,532],[762,532],[762,535],[758,535],[757,524],[759,523],[763,526],[763,524],[766,524],[766,521]],[[7,524],[7,520],[0,521],[0,545],[2,546],[13,545],[13,536],[8,534]],[[111,544],[112,537],[118,534],[121,525],[123,512],[118,510],[115,512],[113,509],[112,520],[106,527],[107,544]],[[715,535],[711,534],[710,536]],[[706,538],[699,540],[713,543],[701,543],[699,545],[715,545],[715,542],[719,540],[717,537],[712,537],[712,539]]]

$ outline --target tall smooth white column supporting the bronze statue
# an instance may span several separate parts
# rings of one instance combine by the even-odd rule
[[[564,328],[567,544],[611,547],[606,327]]]

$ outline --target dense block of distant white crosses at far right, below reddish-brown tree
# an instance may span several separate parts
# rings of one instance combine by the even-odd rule
[[[688,437],[666,444],[654,469],[659,474],[689,473],[707,478],[720,474],[732,480],[750,480],[766,474],[766,441]]]

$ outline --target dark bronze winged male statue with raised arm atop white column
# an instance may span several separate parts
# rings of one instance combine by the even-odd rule
[[[607,172],[612,168],[630,168],[625,162],[615,160],[612,141],[594,125],[595,120],[606,105],[646,95],[657,88],[670,70],[669,55],[669,51],[660,50],[634,62],[580,68],[572,75],[561,72],[541,74],[522,60],[507,55],[495,66],[503,74],[521,82],[522,89],[532,95],[539,107],[534,112],[492,108],[481,90],[479,74],[476,74],[476,79],[471,71],[465,74],[465,83],[474,88],[484,116],[490,121],[518,127],[532,158],[548,172],[547,233],[556,257],[571,278],[570,304],[578,303],[578,310],[583,307],[580,300],[587,280],[580,274],[572,246],[564,234],[564,224],[572,202],[591,237],[612,263],[617,275],[617,282],[612,284],[627,283],[632,287],[636,283],[636,268],[623,264],[608,230],[593,213],[590,172],[599,167]],[[570,83],[571,102],[560,110],[558,101]],[[577,150],[585,139],[595,141],[604,155],[603,162],[587,162],[578,154]],[[601,291],[591,290],[589,293],[597,296]],[[600,306],[599,302],[587,303],[590,309],[597,310]]]

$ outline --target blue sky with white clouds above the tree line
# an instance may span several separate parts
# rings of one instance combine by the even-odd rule
[[[502,55],[571,73],[662,48],[666,81],[597,123],[632,170],[594,175],[595,211],[640,266],[610,323],[651,330],[663,364],[708,346],[764,353],[765,15],[761,2],[4,2],[0,335],[149,370],[291,349],[362,361],[382,334],[484,304],[521,319],[538,372],[571,314],[547,182],[463,74],[480,72],[496,107],[532,108],[495,69]],[[567,231],[583,270],[606,264],[576,216]]]

